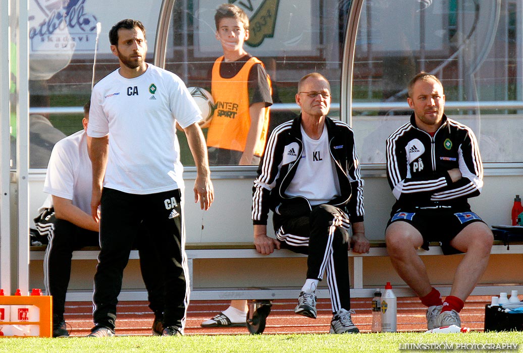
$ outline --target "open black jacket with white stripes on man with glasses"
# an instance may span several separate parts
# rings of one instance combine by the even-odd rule
[[[258,167],[253,186],[252,219],[255,225],[266,225],[269,209],[276,214],[299,216],[311,210],[309,201],[302,196],[286,196],[298,168],[303,152],[301,115],[276,127],[272,131],[265,153]],[[329,152],[335,162],[340,196],[329,205],[344,210],[351,223],[363,221],[363,180],[356,155],[354,133],[344,122],[325,117],[329,139]]]

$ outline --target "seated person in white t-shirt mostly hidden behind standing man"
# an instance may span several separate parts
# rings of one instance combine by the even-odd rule
[[[53,337],[69,336],[64,320],[65,295],[71,277],[72,253],[83,246],[99,245],[99,222],[91,216],[93,175],[89,158],[92,138],[87,136],[89,102],[84,105],[83,130],[55,144],[47,167],[43,191],[50,195],[45,207],[54,207],[56,221],[44,256],[44,285],[53,297]],[[163,278],[157,270],[155,250],[138,239],[140,268],[154,312],[152,331],[163,332]]]

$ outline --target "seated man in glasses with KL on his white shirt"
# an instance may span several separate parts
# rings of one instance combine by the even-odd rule
[[[327,273],[331,333],[356,333],[351,320],[347,252],[369,250],[363,225],[363,180],[354,133],[327,116],[331,86],[319,73],[303,76],[296,103],[301,114],[276,127],[253,187],[254,244],[261,254],[287,248],[308,254],[294,312],[316,319],[316,287]],[[269,209],[276,239],[267,236]],[[348,228],[353,227],[349,240]]]

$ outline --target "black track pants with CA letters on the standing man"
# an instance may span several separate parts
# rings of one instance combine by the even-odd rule
[[[136,195],[104,188],[101,197],[100,246],[93,294],[95,327],[115,328],[123,269],[132,245],[154,244],[158,271],[164,277],[164,327],[183,330],[189,300],[185,232],[180,191]],[[140,226],[146,231],[140,234]],[[140,242],[139,242],[140,243]]]

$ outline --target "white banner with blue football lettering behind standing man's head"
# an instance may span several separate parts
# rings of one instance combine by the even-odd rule
[[[152,60],[161,1],[29,0],[30,80],[48,80],[72,61],[111,58],[108,32],[119,20],[138,19],[146,28]]]

